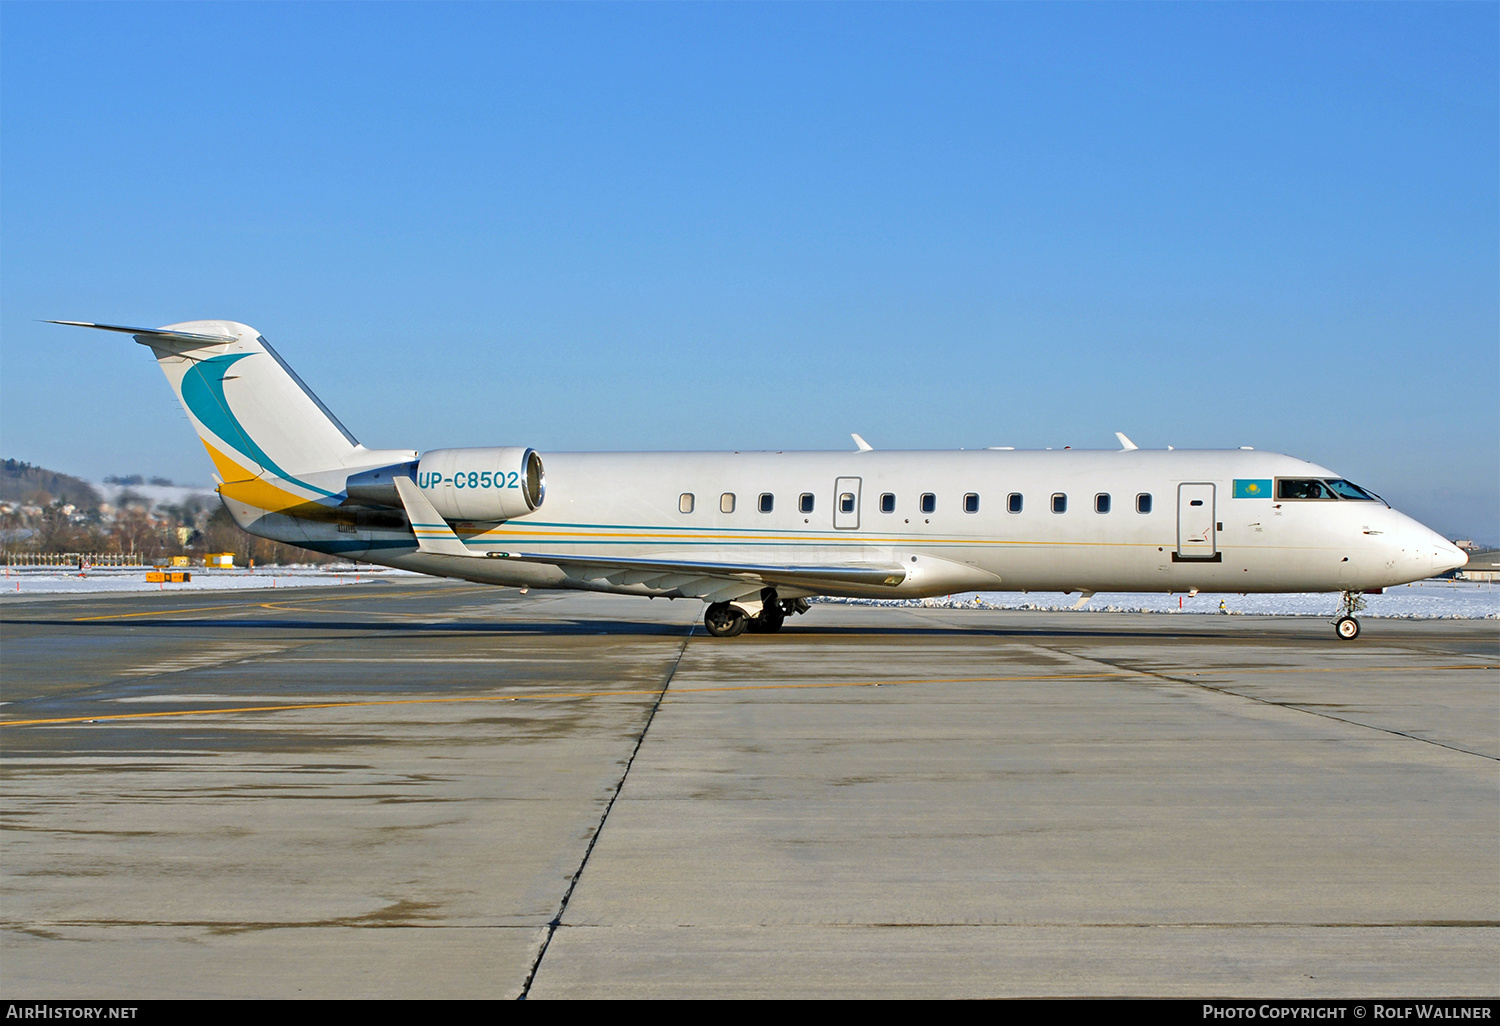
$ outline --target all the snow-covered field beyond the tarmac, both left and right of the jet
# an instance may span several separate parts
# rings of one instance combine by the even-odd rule
[[[80,576],[76,570],[48,567],[9,570],[0,578],[0,596],[80,594],[98,591],[231,591],[240,588],[310,588],[369,584],[372,580],[412,579],[422,574],[384,567],[332,564],[322,567],[260,567],[256,570],[189,568],[188,584],[147,584],[147,567],[100,567]],[[868,598],[825,598],[822,602],[872,603]],[[1380,596],[1365,596],[1362,616],[1418,620],[1500,620],[1500,590],[1494,582],[1422,580],[1388,588]],[[1222,603],[1222,608],[1221,608]],[[1060,592],[1018,594],[984,591],[922,598],[909,603],[978,609],[1035,609],[1046,612],[1148,612],[1148,614],[1256,614],[1274,616],[1332,616],[1336,594],[1290,596],[1166,596],[1155,592],[1096,594],[1078,606],[1078,596]]]

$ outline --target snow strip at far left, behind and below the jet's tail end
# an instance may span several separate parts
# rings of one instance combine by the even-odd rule
[[[184,567],[178,567],[182,570]],[[398,578],[420,578],[423,574],[386,567],[328,564],[321,567],[258,567],[255,570],[208,570],[186,567],[192,574],[183,584],[150,584],[146,574],[152,567],[96,567],[80,574],[68,567],[34,567],[18,570],[10,567],[0,578],[0,596],[58,596],[98,591],[237,591],[240,588],[318,588]]]

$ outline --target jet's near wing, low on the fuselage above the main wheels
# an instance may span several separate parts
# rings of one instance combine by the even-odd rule
[[[570,578],[603,580],[612,585],[646,585],[708,602],[742,598],[760,588],[838,590],[848,585],[894,588],[906,580],[906,568],[896,562],[702,562],[690,560],[638,560],[621,556],[578,556],[555,552],[488,552],[490,560],[549,562]]]

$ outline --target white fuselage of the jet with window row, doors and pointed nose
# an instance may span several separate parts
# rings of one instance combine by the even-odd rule
[[[1276,500],[1280,480],[1338,476],[1269,452],[548,453],[544,459],[546,496],[538,508],[501,524],[453,524],[474,555],[540,550],[908,568],[896,585],[849,584],[816,592],[783,586],[782,597],[1370,591],[1428,578],[1454,562],[1446,538],[1382,501]],[[1242,494],[1244,482],[1266,484],[1262,495],[1236,498],[1236,482]],[[243,520],[255,530],[254,519]],[[674,591],[548,564],[418,552],[406,530],[360,528],[351,537],[348,526],[340,534],[332,524],[282,526],[278,537],[290,532],[286,542],[424,573],[516,586]]]

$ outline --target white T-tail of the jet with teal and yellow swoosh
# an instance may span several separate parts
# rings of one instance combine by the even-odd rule
[[[231,490],[262,510],[333,496],[352,468],[392,462],[360,446],[255,328],[186,321],[162,328],[54,321],[134,334],[150,346]],[[228,486],[252,483],[254,488]]]

